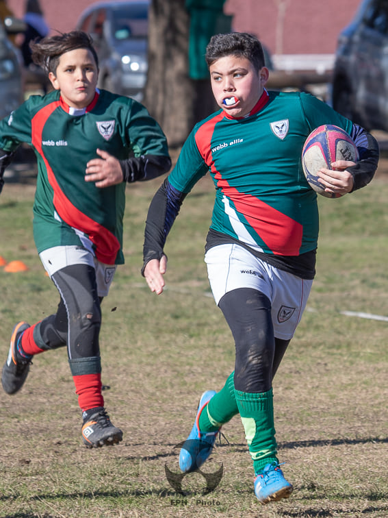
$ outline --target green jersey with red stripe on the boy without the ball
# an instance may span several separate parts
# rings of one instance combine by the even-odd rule
[[[86,164],[103,149],[119,160],[168,156],[166,137],[142,104],[105,90],[87,108],[70,108],[58,90],[29,97],[0,121],[0,148],[32,145],[38,160],[34,239],[38,252],[91,242],[96,257],[120,264],[125,182],[98,188],[85,182]]]

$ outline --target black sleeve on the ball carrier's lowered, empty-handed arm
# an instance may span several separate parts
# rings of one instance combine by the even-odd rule
[[[163,255],[168,232],[170,232],[172,223],[179,214],[179,209],[185,197],[186,193],[181,193],[180,190],[172,187],[168,178],[164,180],[155,193],[148,208],[144,231],[142,275],[144,275],[144,268],[148,261],[151,261],[151,259],[160,260]]]

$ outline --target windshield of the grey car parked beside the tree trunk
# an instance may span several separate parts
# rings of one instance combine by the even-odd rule
[[[147,5],[131,5],[114,9],[112,12],[112,29],[116,40],[128,38],[146,38],[148,36]]]

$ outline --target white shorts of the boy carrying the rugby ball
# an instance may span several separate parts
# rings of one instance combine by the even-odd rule
[[[205,254],[211,291],[218,305],[229,291],[253,288],[271,301],[274,336],[289,340],[302,318],[313,284],[273,267],[239,245],[212,247]]]

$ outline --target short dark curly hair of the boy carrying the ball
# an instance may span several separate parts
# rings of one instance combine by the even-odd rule
[[[211,36],[206,47],[207,66],[225,56],[237,56],[248,59],[259,71],[266,63],[261,43],[247,32],[229,32]]]

